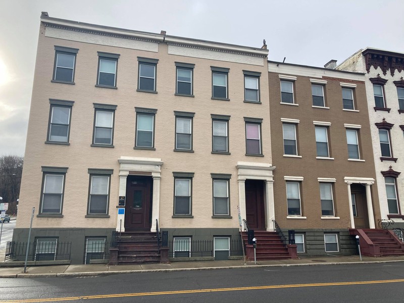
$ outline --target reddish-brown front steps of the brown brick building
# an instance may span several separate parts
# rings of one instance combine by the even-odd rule
[[[360,236],[364,256],[404,256],[404,243],[389,229],[350,229],[351,235]]]

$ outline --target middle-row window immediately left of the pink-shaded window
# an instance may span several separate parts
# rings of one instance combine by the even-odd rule
[[[212,153],[229,154],[230,116],[211,115],[212,117]],[[219,120],[220,119],[220,120]]]

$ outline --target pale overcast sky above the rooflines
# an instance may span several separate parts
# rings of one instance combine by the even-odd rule
[[[24,155],[42,11],[245,46],[266,39],[269,60],[319,67],[367,46],[404,53],[404,0],[0,0],[0,156]]]

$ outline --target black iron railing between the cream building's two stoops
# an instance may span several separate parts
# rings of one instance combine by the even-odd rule
[[[170,258],[214,257],[213,240],[180,240],[168,241]],[[230,256],[242,256],[241,240],[230,240]]]

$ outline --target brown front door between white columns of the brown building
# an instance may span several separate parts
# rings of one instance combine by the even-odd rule
[[[366,203],[366,188],[361,184],[350,186],[352,211],[354,212],[355,228],[369,228],[368,206]]]

